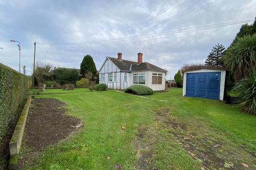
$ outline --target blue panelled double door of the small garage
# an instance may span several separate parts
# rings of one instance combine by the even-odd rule
[[[220,72],[187,73],[186,96],[220,98]]]

